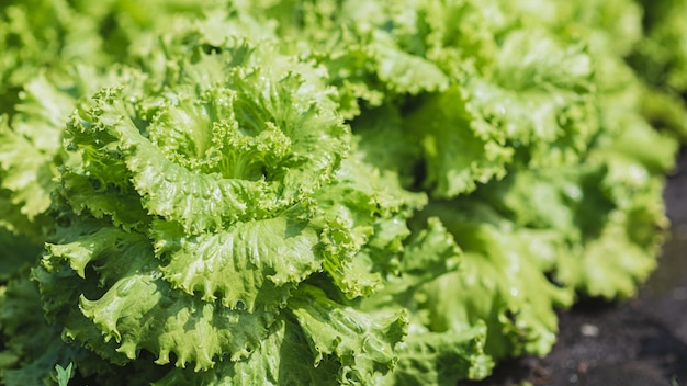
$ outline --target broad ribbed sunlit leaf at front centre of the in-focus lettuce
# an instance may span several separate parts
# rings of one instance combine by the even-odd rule
[[[300,206],[279,217],[198,236],[156,222],[151,236],[156,254],[169,259],[160,268],[168,282],[249,313],[283,307],[290,288],[322,270],[318,231],[308,223],[307,208]]]

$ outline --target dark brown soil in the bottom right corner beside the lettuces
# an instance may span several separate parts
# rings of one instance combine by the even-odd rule
[[[635,298],[582,300],[560,313],[549,355],[505,362],[489,378],[459,385],[687,386],[687,154],[664,195],[672,231]]]

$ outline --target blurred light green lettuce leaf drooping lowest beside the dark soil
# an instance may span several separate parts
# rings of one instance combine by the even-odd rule
[[[419,291],[430,330],[462,331],[485,321],[485,352],[495,359],[548,352],[558,329],[554,309],[570,306],[573,293],[545,276],[551,264],[539,254],[551,248],[547,238],[513,231],[476,202],[429,205],[426,214],[440,216],[464,251],[460,270]]]

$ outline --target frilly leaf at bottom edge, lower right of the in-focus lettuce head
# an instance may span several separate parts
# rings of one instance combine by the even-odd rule
[[[308,284],[288,309],[246,361],[224,361],[206,373],[178,368],[155,385],[369,385],[396,363],[403,311],[361,313]]]

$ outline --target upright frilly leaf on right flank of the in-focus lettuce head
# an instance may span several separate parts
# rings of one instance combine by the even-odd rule
[[[370,295],[395,270],[394,254],[409,235],[405,219],[426,196],[402,189],[392,171],[353,157],[315,197],[324,212],[325,271],[348,297]]]

